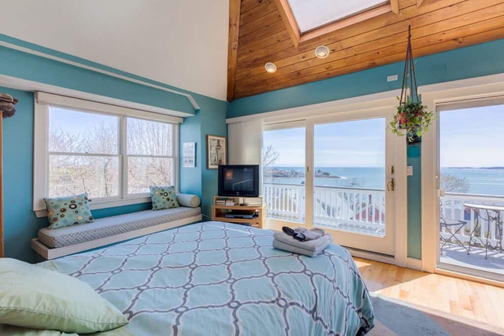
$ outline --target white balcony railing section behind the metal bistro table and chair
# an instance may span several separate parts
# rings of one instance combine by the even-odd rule
[[[467,224],[463,230],[460,230],[455,236],[464,243],[468,243],[471,237],[473,239],[472,244],[482,242],[486,240],[487,226],[488,222],[479,219],[480,228],[474,230],[476,224],[477,215],[474,210],[468,207],[464,207],[464,204],[481,204],[481,205],[491,205],[491,206],[504,206],[504,196],[493,196],[493,195],[479,195],[479,194],[465,194],[465,193],[446,193],[444,197],[440,199],[440,212],[446,221],[464,221]],[[481,214],[483,218],[486,218],[486,213]],[[495,214],[491,214],[494,216]],[[501,212],[500,218],[504,218],[504,212]],[[499,232],[502,230],[497,230],[495,221],[490,221],[490,230],[488,232],[488,242],[492,246],[496,246],[502,236],[499,237]],[[451,234],[445,228],[440,228],[440,233],[445,239],[449,239]],[[455,232],[456,229],[452,228]],[[501,235],[502,233],[500,233]]]

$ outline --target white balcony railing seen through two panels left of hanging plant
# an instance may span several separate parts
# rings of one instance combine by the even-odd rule
[[[305,187],[299,184],[263,183],[268,217],[304,222]],[[313,222],[342,230],[385,234],[385,190],[315,186]]]

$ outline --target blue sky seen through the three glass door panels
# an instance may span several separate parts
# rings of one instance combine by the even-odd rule
[[[316,167],[383,167],[384,118],[314,127]],[[504,166],[504,105],[442,111],[441,167]],[[304,166],[304,128],[265,131],[264,146],[280,153],[279,167]]]

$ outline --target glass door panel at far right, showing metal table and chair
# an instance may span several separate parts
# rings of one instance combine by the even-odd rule
[[[438,263],[504,279],[504,105],[439,111]]]

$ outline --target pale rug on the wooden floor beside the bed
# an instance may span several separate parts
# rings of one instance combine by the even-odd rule
[[[369,336],[493,336],[504,329],[465,317],[371,294],[374,328]]]

